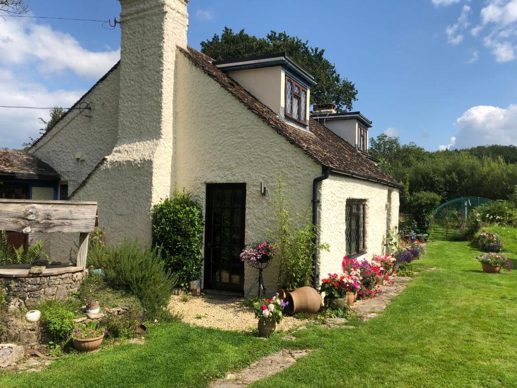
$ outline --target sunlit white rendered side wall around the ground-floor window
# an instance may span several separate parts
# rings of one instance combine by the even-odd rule
[[[388,213],[388,195],[391,209]],[[366,200],[366,257],[384,253],[386,231],[398,225],[398,189],[373,182],[330,175],[320,189],[320,241],[330,244],[329,251],[319,255],[320,279],[328,273],[341,273],[346,253],[345,204],[348,199]]]

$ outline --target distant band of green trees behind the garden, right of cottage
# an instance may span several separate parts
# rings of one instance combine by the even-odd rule
[[[429,218],[429,209],[447,200],[483,197],[506,200],[517,186],[517,147],[488,145],[453,151],[425,151],[415,143],[379,135],[370,139],[370,154],[403,186],[401,212]]]

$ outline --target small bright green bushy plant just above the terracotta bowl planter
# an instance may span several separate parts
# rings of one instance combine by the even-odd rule
[[[58,341],[67,341],[75,327],[75,314],[59,301],[40,305],[42,323],[45,329]]]

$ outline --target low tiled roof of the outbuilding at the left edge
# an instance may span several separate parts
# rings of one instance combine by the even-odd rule
[[[59,180],[56,170],[24,151],[0,150],[0,175],[19,179]]]

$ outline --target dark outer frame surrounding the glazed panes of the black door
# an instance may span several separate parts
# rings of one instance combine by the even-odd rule
[[[205,192],[205,238],[204,238],[204,257],[203,257],[203,288],[210,288],[214,286],[211,282],[211,228],[212,228],[212,208],[213,208],[213,195],[214,190],[217,189],[241,189],[242,190],[242,213],[240,217],[240,233],[242,236],[242,248],[244,249],[245,238],[246,238],[246,183],[207,183]],[[241,271],[241,282],[239,285],[234,287],[228,287],[226,290],[222,290],[217,287],[214,289],[221,291],[239,292],[244,293],[244,276],[245,266],[242,263]],[[232,283],[228,283],[230,286]]]

